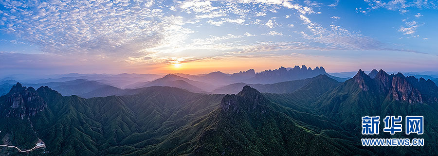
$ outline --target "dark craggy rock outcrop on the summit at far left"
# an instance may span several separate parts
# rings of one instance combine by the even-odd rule
[[[5,100],[0,104],[1,116],[3,117],[24,119],[26,116],[35,116],[47,107],[46,102],[33,87],[22,87],[19,83],[4,96]]]

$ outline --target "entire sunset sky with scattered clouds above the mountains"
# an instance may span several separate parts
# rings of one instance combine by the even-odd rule
[[[0,0],[0,73],[438,70],[433,0]]]

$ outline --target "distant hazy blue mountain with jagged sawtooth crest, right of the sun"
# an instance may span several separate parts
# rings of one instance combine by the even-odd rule
[[[272,84],[278,82],[292,81],[292,80],[300,80],[312,78],[318,75],[327,75],[336,81],[343,82],[346,79],[338,78],[329,75],[323,67],[316,67],[315,69],[307,68],[306,66],[295,66],[292,69],[286,69],[284,67],[280,67],[275,70],[265,70],[262,72],[256,73],[256,76],[245,80],[245,83],[253,83],[253,84]]]

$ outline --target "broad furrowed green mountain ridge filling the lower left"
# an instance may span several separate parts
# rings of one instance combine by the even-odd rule
[[[28,92],[35,100],[24,101],[23,109],[27,111],[21,107],[13,109],[7,99],[21,101],[16,97],[25,99]],[[129,152],[128,149],[138,150],[160,142],[160,138],[214,110],[222,97],[154,86],[142,88],[135,95],[83,99],[62,96],[49,87],[35,91],[17,84],[10,93],[0,97],[2,114],[17,114],[0,116],[0,136],[12,136],[10,145],[21,149],[30,149],[41,139],[46,142],[44,150],[50,152],[49,156],[120,155]],[[38,155],[42,150],[30,154]],[[14,149],[8,152],[20,155]]]

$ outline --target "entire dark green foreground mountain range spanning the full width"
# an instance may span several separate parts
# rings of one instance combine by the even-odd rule
[[[359,70],[341,83],[327,75],[289,83],[297,89],[286,94],[250,86],[227,95],[152,86],[90,99],[17,83],[0,97],[0,137],[23,149],[41,139],[46,148],[29,155],[45,150],[54,156],[400,156],[438,151],[438,87],[431,80],[383,70],[371,78]],[[365,115],[421,115],[425,133],[361,135]],[[360,144],[372,137],[424,138],[425,143]]]

